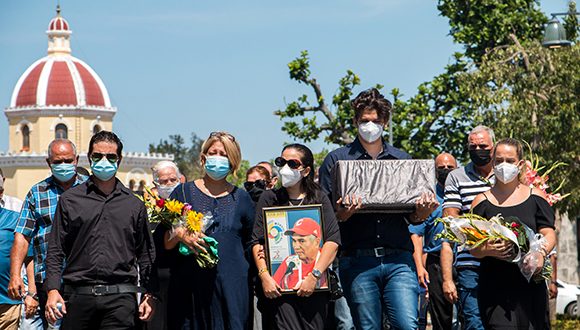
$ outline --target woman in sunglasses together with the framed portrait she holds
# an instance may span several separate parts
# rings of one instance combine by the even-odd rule
[[[256,289],[262,325],[264,329],[324,329],[330,320],[330,292],[320,289],[328,288],[326,271],[340,245],[334,209],[314,181],[314,157],[308,147],[288,145],[275,163],[280,168],[282,187],[262,193],[252,234],[252,254],[262,287]],[[265,231],[264,209],[287,207],[287,212],[291,212],[293,207],[302,210],[312,204],[319,204],[323,222],[303,217],[295,219],[291,226],[287,223],[282,230],[272,229],[278,230],[280,236],[288,236],[293,250],[281,262],[278,272],[272,274],[272,264],[267,259],[271,256],[264,252],[266,236],[272,234]]]

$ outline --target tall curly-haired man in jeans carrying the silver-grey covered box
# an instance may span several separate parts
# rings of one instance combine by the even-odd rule
[[[357,138],[329,153],[319,170],[320,184],[329,196],[332,169],[339,160],[411,158],[382,139],[391,103],[377,89],[361,92],[352,106]],[[342,238],[340,280],[356,328],[381,329],[385,306],[393,328],[416,329],[419,288],[407,222],[425,220],[438,205],[435,196],[421,196],[411,214],[355,213],[361,207],[356,196],[334,202]]]

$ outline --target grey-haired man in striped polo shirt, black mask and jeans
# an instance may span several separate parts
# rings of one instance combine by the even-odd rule
[[[495,181],[491,166],[494,140],[493,130],[489,127],[477,126],[471,130],[467,138],[471,162],[449,173],[445,181],[443,216],[457,217],[469,212],[475,196],[491,188]],[[477,305],[479,260],[468,251],[458,253],[455,261],[457,288],[453,282],[452,264],[451,245],[443,242],[441,249],[443,294],[451,302],[459,300],[463,329],[483,330]]]

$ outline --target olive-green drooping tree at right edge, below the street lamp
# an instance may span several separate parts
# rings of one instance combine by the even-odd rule
[[[465,72],[460,87],[499,137],[531,143],[544,165],[568,164],[550,173],[552,188],[564,181],[571,193],[556,204],[580,212],[580,45],[543,48],[539,41],[521,42],[482,57],[476,70]]]

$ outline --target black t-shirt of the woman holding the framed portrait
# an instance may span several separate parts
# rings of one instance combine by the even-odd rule
[[[293,204],[295,203],[296,202],[293,202]],[[304,200],[302,203],[302,205],[309,204],[322,204],[322,231],[324,232],[325,242],[335,242],[340,245],[340,230],[338,228],[338,222],[336,221],[334,209],[332,208],[332,204],[330,204],[328,197],[324,195],[322,191],[317,191],[315,198],[312,200]],[[260,196],[258,204],[256,205],[256,217],[251,242],[252,246],[255,244],[264,244],[264,213],[262,209],[274,206],[290,206],[290,201],[284,188],[278,190],[267,190],[262,193],[262,196]]]

